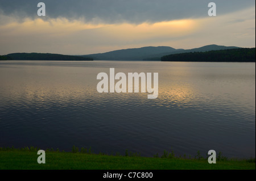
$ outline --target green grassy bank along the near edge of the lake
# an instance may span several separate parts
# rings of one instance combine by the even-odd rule
[[[166,154],[165,152],[164,154]],[[207,159],[169,157],[138,157],[130,155],[92,154],[86,151],[64,152],[46,151],[46,164],[38,164],[39,155],[35,148],[0,149],[1,170],[40,170],[40,169],[75,169],[75,170],[201,170],[201,169],[254,169],[254,159],[220,159],[216,164],[209,164]],[[223,157],[224,158],[224,157]]]

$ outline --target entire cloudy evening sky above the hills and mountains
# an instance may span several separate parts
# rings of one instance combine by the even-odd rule
[[[39,2],[46,16],[38,16]],[[255,47],[255,1],[0,0],[0,55],[209,44]]]

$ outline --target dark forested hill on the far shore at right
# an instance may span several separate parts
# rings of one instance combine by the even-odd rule
[[[161,61],[255,62],[255,48],[169,54],[161,57]]]

